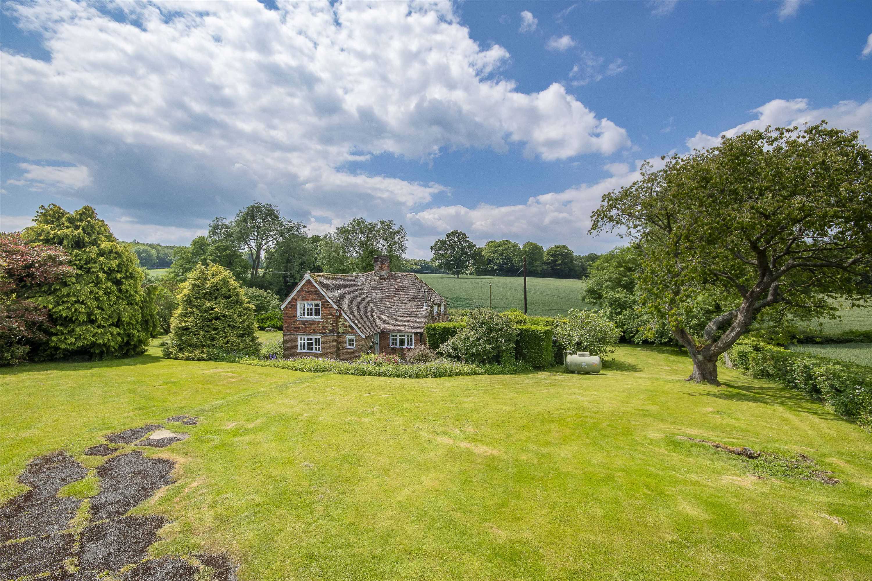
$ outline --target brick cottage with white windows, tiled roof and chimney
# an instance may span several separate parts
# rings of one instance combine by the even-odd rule
[[[367,352],[402,357],[426,341],[425,325],[448,321],[448,301],[376,256],[371,273],[306,273],[282,313],[285,358],[351,361]]]

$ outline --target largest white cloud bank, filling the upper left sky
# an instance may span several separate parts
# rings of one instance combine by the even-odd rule
[[[4,10],[51,55],[0,53],[3,150],[51,160],[12,179],[143,224],[200,227],[255,198],[322,225],[401,219],[449,188],[358,162],[512,144],[530,158],[567,159],[630,145],[561,84],[525,93],[494,74],[508,51],[470,38],[453,3]]]

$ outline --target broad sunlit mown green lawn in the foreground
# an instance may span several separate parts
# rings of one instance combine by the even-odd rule
[[[682,381],[672,348],[601,375],[397,380],[168,361],[0,370],[0,501],[26,463],[175,414],[148,456],[178,482],[135,510],[157,554],[227,552],[240,579],[869,579],[872,435],[768,382]],[[756,477],[692,436],[832,470]]]

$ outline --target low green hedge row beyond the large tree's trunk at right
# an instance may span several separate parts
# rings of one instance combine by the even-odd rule
[[[738,341],[727,355],[733,366],[753,377],[783,383],[872,428],[872,368],[755,339]]]

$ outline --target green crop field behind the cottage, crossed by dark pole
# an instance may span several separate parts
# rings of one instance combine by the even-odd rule
[[[450,274],[419,274],[419,277],[455,309],[487,307],[488,285],[493,293],[495,310],[524,308],[524,280],[520,276],[462,275],[456,279]],[[589,307],[580,297],[585,284],[586,281],[575,279],[528,278],[528,314],[555,316],[572,307]]]

